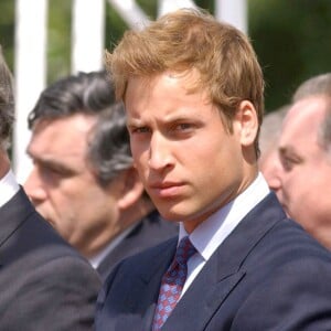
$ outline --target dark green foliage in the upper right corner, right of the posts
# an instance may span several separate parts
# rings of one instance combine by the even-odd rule
[[[331,70],[330,0],[249,0],[249,36],[264,67],[266,109],[305,79]]]

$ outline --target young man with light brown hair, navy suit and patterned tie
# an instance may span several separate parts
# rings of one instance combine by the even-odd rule
[[[125,34],[107,65],[168,241],[128,258],[97,330],[331,330],[331,256],[258,171],[264,79],[237,29],[179,10]]]

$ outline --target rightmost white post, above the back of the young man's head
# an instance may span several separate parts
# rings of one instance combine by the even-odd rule
[[[247,33],[247,0],[215,0],[215,17]]]

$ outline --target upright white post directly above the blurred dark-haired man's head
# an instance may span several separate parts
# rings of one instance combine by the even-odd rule
[[[104,66],[105,0],[74,0],[73,6],[72,73],[98,71]]]

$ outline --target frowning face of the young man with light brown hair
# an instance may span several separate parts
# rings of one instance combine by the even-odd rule
[[[188,232],[249,182],[242,119],[234,119],[228,134],[206,94],[188,92],[195,79],[194,72],[131,78],[125,98],[131,151],[145,188],[162,216],[183,221]]]

